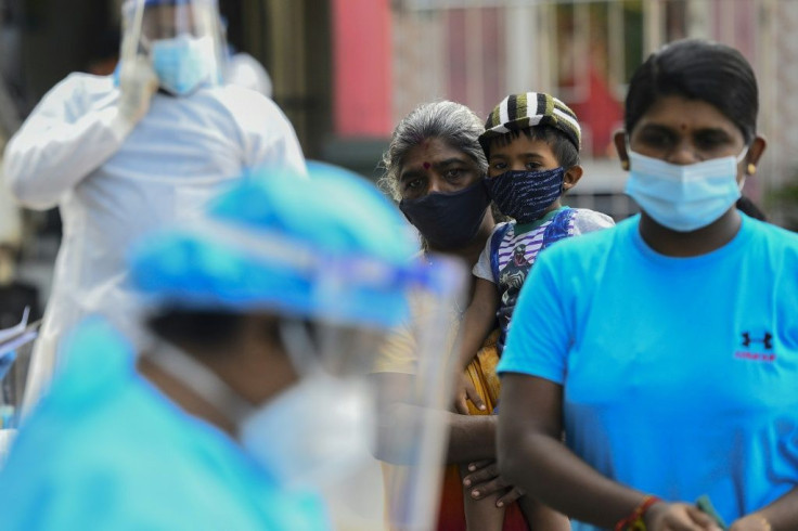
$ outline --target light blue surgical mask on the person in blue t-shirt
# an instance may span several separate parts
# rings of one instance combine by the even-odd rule
[[[629,150],[626,193],[660,225],[678,232],[698,230],[739,198],[737,164],[747,151],[738,157],[675,165]]]

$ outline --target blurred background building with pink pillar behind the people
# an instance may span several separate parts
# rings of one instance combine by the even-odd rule
[[[0,0],[0,148],[54,83],[113,53],[120,2]],[[636,208],[609,143],[631,72],[669,40],[726,42],[757,70],[769,140],[745,192],[771,221],[798,229],[798,0],[219,3],[229,40],[266,66],[308,157],[376,178],[394,126],[420,103],[450,99],[487,116],[507,93],[548,91],[584,130],[585,178],[568,202],[617,219]],[[22,274],[46,294],[57,213],[21,213]]]

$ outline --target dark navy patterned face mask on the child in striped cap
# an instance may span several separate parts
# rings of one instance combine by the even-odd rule
[[[488,193],[504,216],[518,223],[540,219],[563,195],[564,168],[542,171],[505,171],[487,178]]]

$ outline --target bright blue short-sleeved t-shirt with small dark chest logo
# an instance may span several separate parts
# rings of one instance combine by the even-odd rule
[[[567,444],[604,476],[708,494],[729,523],[798,487],[798,235],[743,216],[672,258],[635,217],[542,252],[513,323],[499,372],[561,384]]]

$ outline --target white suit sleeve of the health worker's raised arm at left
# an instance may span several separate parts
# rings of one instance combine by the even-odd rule
[[[86,76],[73,75],[41,100],[5,147],[5,182],[28,208],[55,206],[62,195],[121,146],[132,126],[115,105],[86,112]]]

